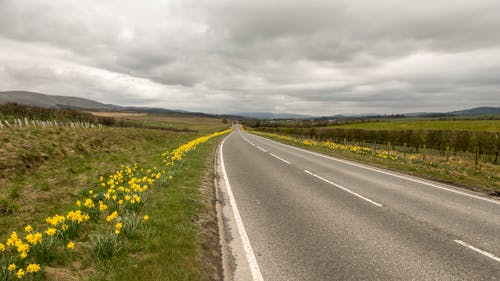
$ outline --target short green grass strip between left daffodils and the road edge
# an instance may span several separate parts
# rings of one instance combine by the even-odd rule
[[[90,280],[212,280],[217,276],[217,260],[204,251],[218,247],[217,237],[207,235],[215,233],[216,227],[210,171],[220,138],[201,144],[175,169],[171,183],[149,193],[148,229]]]

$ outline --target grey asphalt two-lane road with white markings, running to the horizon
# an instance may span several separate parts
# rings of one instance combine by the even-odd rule
[[[500,280],[500,201],[237,128],[220,152],[235,280]]]

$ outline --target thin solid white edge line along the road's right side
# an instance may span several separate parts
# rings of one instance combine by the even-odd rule
[[[258,136],[258,135],[255,135],[255,136]],[[258,137],[261,137],[261,136],[258,136]],[[432,182],[428,182],[428,181],[424,181],[424,180],[419,180],[419,179],[416,179],[416,178],[411,178],[411,177],[407,177],[407,176],[400,175],[400,174],[395,174],[395,173],[392,173],[392,172],[389,172],[389,171],[379,170],[379,169],[372,168],[372,167],[369,167],[369,166],[365,166],[365,165],[362,165],[362,164],[354,163],[354,162],[347,161],[347,160],[338,159],[338,158],[335,158],[335,157],[332,157],[332,156],[323,155],[323,154],[320,154],[320,153],[317,153],[317,152],[313,152],[313,151],[309,151],[309,150],[306,150],[306,149],[294,147],[292,145],[280,143],[280,142],[277,142],[277,141],[274,141],[274,140],[270,140],[270,139],[267,139],[267,138],[264,138],[264,137],[261,137],[261,138],[263,138],[265,140],[268,140],[268,141],[271,141],[271,142],[274,142],[274,143],[277,143],[277,144],[280,144],[280,145],[283,145],[283,146],[287,146],[287,147],[295,149],[295,150],[299,150],[299,151],[302,151],[302,152],[313,154],[313,155],[316,155],[316,156],[319,156],[319,157],[322,157],[322,158],[330,159],[330,160],[341,162],[341,163],[348,164],[348,165],[351,165],[351,166],[363,168],[363,169],[374,171],[374,172],[379,172],[379,173],[382,173],[382,174],[385,174],[385,175],[389,175],[389,176],[393,176],[393,177],[396,177],[396,178],[400,178],[400,179],[404,179],[404,180],[408,180],[408,181],[420,183],[420,184],[427,185],[427,186],[432,186],[432,187],[439,188],[439,189],[442,189],[442,190],[446,190],[446,191],[449,191],[449,192],[453,192],[453,193],[456,193],[456,194],[460,194],[460,195],[464,195],[464,196],[468,196],[468,197],[472,197],[472,198],[475,198],[475,199],[479,199],[479,200],[483,200],[483,201],[486,201],[486,202],[490,202],[490,203],[494,203],[494,204],[500,205],[500,201],[498,201],[498,200],[493,200],[493,199],[481,197],[481,196],[478,196],[478,195],[469,194],[469,193],[466,193],[466,192],[455,190],[455,189],[453,189],[453,187],[444,187],[442,185],[438,185],[438,184],[435,184],[435,183],[432,183]]]

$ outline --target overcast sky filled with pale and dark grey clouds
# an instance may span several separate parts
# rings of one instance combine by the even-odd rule
[[[0,90],[213,113],[500,106],[500,1],[0,0]]]

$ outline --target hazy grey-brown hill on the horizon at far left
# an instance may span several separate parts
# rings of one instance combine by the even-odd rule
[[[120,110],[121,106],[103,104],[89,99],[65,96],[52,96],[26,91],[0,92],[0,104],[17,102],[38,107],[75,108],[90,110]]]

